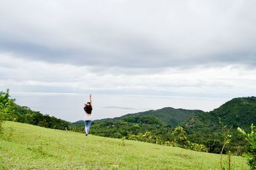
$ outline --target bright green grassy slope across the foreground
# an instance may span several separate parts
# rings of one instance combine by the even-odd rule
[[[217,154],[16,122],[5,122],[0,136],[0,169],[220,169]],[[231,167],[249,169],[233,156]]]

